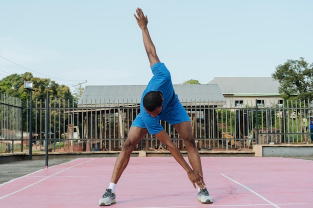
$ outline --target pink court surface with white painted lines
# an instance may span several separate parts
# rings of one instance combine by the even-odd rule
[[[79,158],[0,185],[0,208],[99,208],[116,158]],[[187,158],[186,158],[187,159]],[[202,157],[213,204],[172,157],[131,157],[110,208],[313,208],[313,161]]]

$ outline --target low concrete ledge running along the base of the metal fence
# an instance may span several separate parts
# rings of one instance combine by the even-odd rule
[[[180,151],[187,157],[187,151]],[[117,157],[120,151],[95,151],[95,152],[49,152],[49,159],[82,158],[82,157]],[[280,144],[280,145],[253,145],[252,151],[213,151],[200,150],[200,157],[313,157],[313,144]],[[131,157],[172,157],[169,151],[133,151]],[[28,153],[3,153],[0,154],[0,164],[28,160]],[[44,160],[45,152],[32,153],[33,160]]]

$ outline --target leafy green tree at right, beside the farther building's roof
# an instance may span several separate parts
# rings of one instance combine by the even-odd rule
[[[313,63],[310,65],[300,57],[300,60],[288,59],[278,65],[272,78],[279,82],[278,91],[283,99],[313,99]]]

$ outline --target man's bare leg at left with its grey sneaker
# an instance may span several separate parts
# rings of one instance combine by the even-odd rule
[[[128,137],[124,143],[121,152],[118,154],[115,161],[110,184],[116,185],[121,174],[127,167],[130,154],[136,144],[147,134],[147,129],[131,126],[129,128]],[[109,206],[115,203],[115,193],[111,189],[106,189],[102,198],[99,200],[99,206]]]

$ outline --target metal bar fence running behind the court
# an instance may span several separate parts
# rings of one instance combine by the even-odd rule
[[[75,103],[70,100],[36,100],[32,106],[32,118],[29,118],[29,102],[21,108],[20,103],[9,104],[1,100],[0,152],[28,151],[30,146],[32,152],[40,152],[45,151],[45,144],[48,151],[53,152],[120,150],[132,121],[140,112],[136,102],[120,104],[112,101],[80,107]],[[201,101],[182,101],[182,104],[190,116],[199,150],[238,150],[251,149],[253,144],[305,143],[305,138],[310,137],[309,129],[305,133],[301,131],[301,116],[309,120],[313,115],[311,101],[270,103],[266,107],[259,105],[257,100],[254,104],[242,105],[245,107],[227,107],[219,102],[208,105]],[[33,130],[30,146],[29,119],[32,119]],[[160,124],[177,148],[184,150],[184,142],[172,126],[164,121]],[[11,133],[5,133],[8,132],[6,129]],[[8,149],[7,143],[18,146]],[[160,149],[166,147],[149,134],[135,146],[135,150]]]

